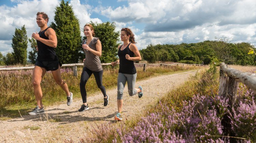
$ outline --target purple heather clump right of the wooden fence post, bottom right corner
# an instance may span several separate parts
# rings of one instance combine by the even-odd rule
[[[231,129],[237,137],[256,142],[256,97],[251,89],[239,86],[237,104],[232,108]]]

